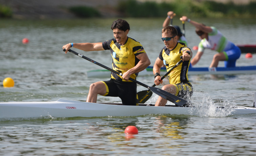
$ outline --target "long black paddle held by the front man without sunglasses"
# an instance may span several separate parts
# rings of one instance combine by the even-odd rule
[[[66,49],[63,49],[63,51],[65,52]],[[68,50],[68,51],[69,51],[70,53],[73,53],[73,54],[79,56],[79,57],[82,57],[83,59],[86,59],[86,60],[88,60],[88,61],[90,61],[90,62],[92,62],[92,63],[95,63],[95,64],[98,65],[98,66],[101,66],[101,67],[103,67],[103,68],[105,68],[105,69],[108,69],[108,70],[110,70],[110,71],[112,71],[112,72],[114,72],[114,73],[116,73],[116,74],[122,76],[122,73],[120,73],[120,72],[118,72],[118,71],[115,71],[115,70],[113,70],[113,69],[111,69],[111,68],[109,68],[109,67],[107,67],[107,66],[104,66],[103,64],[100,64],[100,63],[98,63],[98,62],[96,62],[96,61],[94,61],[94,60],[92,60],[92,59],[90,59],[90,58],[88,58],[88,57],[85,57],[85,56],[83,56],[82,54],[79,54],[79,53],[77,53],[77,52],[75,52],[75,51],[72,51],[71,49]],[[134,79],[132,79],[132,78],[130,78],[129,80],[131,80],[131,81],[133,81],[133,82],[135,82],[135,83],[137,83],[137,84],[139,84],[139,85],[141,85],[141,86],[143,86],[143,87],[149,88],[152,92],[156,93],[157,95],[163,97],[164,99],[166,99],[166,100],[168,100],[168,101],[171,101],[172,103],[177,104],[177,105],[179,105],[179,106],[183,106],[184,104],[187,103],[186,100],[184,100],[184,99],[182,99],[182,98],[180,98],[180,97],[178,97],[178,96],[175,96],[175,95],[173,95],[173,94],[171,94],[171,93],[168,93],[168,92],[166,92],[166,91],[164,91],[164,90],[161,90],[161,89],[159,89],[159,88],[156,88],[156,87],[149,87],[149,86],[147,86],[147,85],[145,85],[145,84],[143,84],[143,83],[141,83],[141,82],[139,82],[139,81],[137,81],[137,80],[134,80]]]

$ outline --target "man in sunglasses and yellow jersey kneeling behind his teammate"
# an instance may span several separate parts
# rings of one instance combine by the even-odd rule
[[[159,57],[153,67],[155,76],[155,84],[160,85],[160,68],[165,65],[167,72],[176,65],[182,56],[183,62],[168,74],[169,83],[164,85],[162,90],[165,90],[173,95],[176,95],[184,100],[190,101],[193,94],[193,87],[188,81],[188,67],[190,59],[192,58],[192,51],[186,46],[185,43],[178,42],[177,30],[172,26],[167,26],[162,29],[162,40],[165,44],[161,50]],[[158,97],[155,106],[165,106],[167,100]]]

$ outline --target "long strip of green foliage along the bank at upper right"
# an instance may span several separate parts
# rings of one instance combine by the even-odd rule
[[[177,16],[189,17],[255,17],[256,2],[248,5],[236,5],[233,2],[218,3],[215,1],[173,0],[157,3],[152,1],[139,2],[136,0],[121,1],[118,11],[125,17],[164,17],[172,10]]]

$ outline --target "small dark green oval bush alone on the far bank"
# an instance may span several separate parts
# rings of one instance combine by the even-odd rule
[[[97,9],[87,6],[73,6],[69,10],[80,18],[100,17]]]

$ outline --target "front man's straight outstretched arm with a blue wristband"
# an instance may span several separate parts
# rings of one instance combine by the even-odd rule
[[[102,42],[98,42],[98,43],[73,43],[73,47],[76,48],[76,49],[80,49],[80,50],[83,50],[83,51],[103,51],[104,48],[102,46]],[[66,45],[63,45],[62,47],[63,49],[66,49],[66,54],[68,52],[68,50],[71,48],[70,44],[66,44]]]

